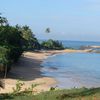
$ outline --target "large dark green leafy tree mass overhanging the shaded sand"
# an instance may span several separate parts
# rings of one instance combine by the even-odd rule
[[[10,68],[16,62],[22,51],[21,33],[12,26],[0,26],[0,69]]]

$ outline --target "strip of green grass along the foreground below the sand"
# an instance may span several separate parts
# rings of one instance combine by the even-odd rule
[[[53,90],[37,95],[26,92],[1,94],[0,100],[100,100],[100,88]]]

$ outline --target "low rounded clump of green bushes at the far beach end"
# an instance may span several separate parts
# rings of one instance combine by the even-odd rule
[[[64,49],[61,42],[54,41],[52,39],[49,39],[48,41],[43,41],[41,43],[41,47],[43,49],[47,49],[47,50],[62,50],[62,49]]]

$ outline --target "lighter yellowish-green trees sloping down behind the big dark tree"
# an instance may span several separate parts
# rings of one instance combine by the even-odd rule
[[[40,49],[40,44],[33,34],[32,30],[29,28],[29,26],[23,26],[20,27],[16,25],[16,28],[21,31],[21,36],[24,39],[24,49],[26,50],[35,50],[35,49]]]

